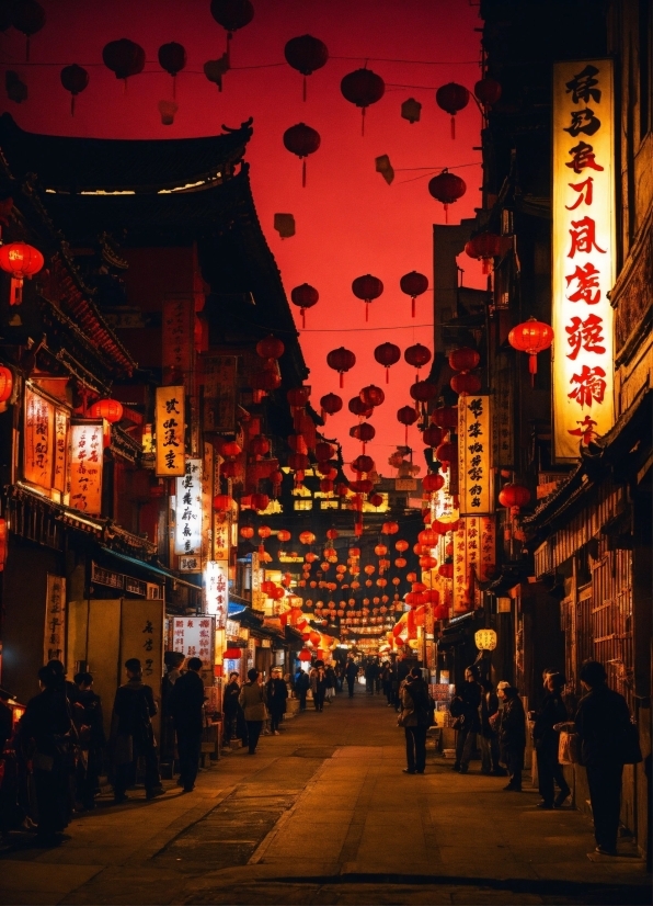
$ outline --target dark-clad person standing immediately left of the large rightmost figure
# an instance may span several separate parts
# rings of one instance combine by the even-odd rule
[[[538,808],[560,808],[571,793],[569,783],[564,779],[562,765],[558,761],[560,734],[554,729],[557,724],[562,724],[568,720],[563,698],[565,682],[562,673],[547,673],[545,678],[547,694],[542,706],[529,715],[535,721],[532,740],[537,757],[539,791],[542,797],[542,801],[538,803]],[[555,783],[559,790],[558,795],[555,795]]]

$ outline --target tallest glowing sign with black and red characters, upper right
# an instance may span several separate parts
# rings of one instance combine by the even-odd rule
[[[553,441],[558,462],[615,422],[612,61],[553,67]]]

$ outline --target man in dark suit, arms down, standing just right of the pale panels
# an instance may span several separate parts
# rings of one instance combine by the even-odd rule
[[[199,676],[202,660],[191,657],[186,667],[186,672],[174,683],[170,706],[176,733],[180,784],[184,793],[192,793],[199,767],[205,694],[204,682]]]

